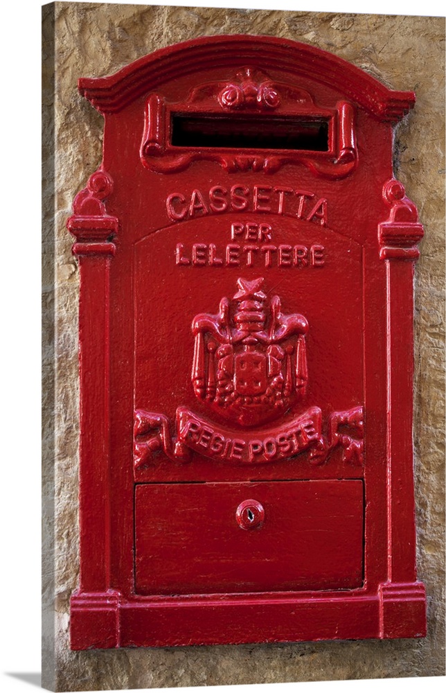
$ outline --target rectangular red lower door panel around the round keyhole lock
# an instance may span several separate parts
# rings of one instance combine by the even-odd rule
[[[262,525],[236,511],[253,499]],[[139,484],[136,593],[195,594],[362,586],[362,480]]]

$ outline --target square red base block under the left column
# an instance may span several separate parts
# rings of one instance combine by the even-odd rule
[[[71,597],[71,649],[119,647],[119,602],[121,594],[75,592]]]

